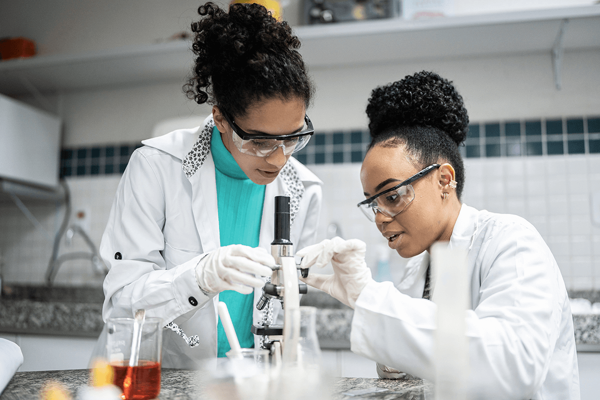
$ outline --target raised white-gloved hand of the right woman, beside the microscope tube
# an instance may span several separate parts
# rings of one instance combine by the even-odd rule
[[[362,240],[344,240],[337,236],[305,247],[296,252],[296,255],[304,257],[302,268],[324,267],[331,261],[334,274],[322,275],[311,271],[308,278],[301,277],[300,280],[354,308],[362,289],[372,280],[371,270],[365,263],[366,248]]]

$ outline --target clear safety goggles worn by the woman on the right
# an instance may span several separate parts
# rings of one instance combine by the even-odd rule
[[[409,179],[406,179],[406,181],[395,185],[395,187],[386,189],[373,197],[369,197],[367,200],[361,201],[358,203],[359,209],[373,222],[378,212],[389,218],[394,218],[394,216],[401,213],[406,206],[415,200],[415,189],[413,189],[411,184],[439,167],[440,164],[428,166]]]

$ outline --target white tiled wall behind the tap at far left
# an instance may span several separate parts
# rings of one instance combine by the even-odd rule
[[[110,206],[115,196],[120,176],[108,175],[98,178],[67,178],[71,192],[70,223],[76,221],[74,215],[85,210],[89,216],[89,236],[96,249],[108,220]],[[53,240],[61,225],[64,206],[40,204],[22,199],[29,211],[40,222],[35,227],[11,201],[0,203],[0,271],[4,282],[43,284],[44,275],[52,255]],[[59,255],[67,252],[85,251],[89,247],[82,237],[73,237],[67,245],[62,237]],[[89,260],[68,260],[59,266],[56,284],[101,286],[104,277],[97,275]]]

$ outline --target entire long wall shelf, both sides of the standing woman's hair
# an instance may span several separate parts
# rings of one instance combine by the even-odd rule
[[[600,5],[458,16],[372,20],[295,28],[310,68],[548,52],[568,26],[562,48],[600,48]],[[0,62],[0,93],[26,94],[181,80],[190,71],[190,43],[119,47],[95,53]],[[550,58],[549,58],[550,60]],[[550,62],[550,61],[549,61]]]

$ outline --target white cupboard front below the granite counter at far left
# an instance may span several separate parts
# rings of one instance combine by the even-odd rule
[[[15,342],[21,348],[23,365],[19,372],[88,368],[96,344],[94,338],[68,336],[0,333],[0,338]]]

